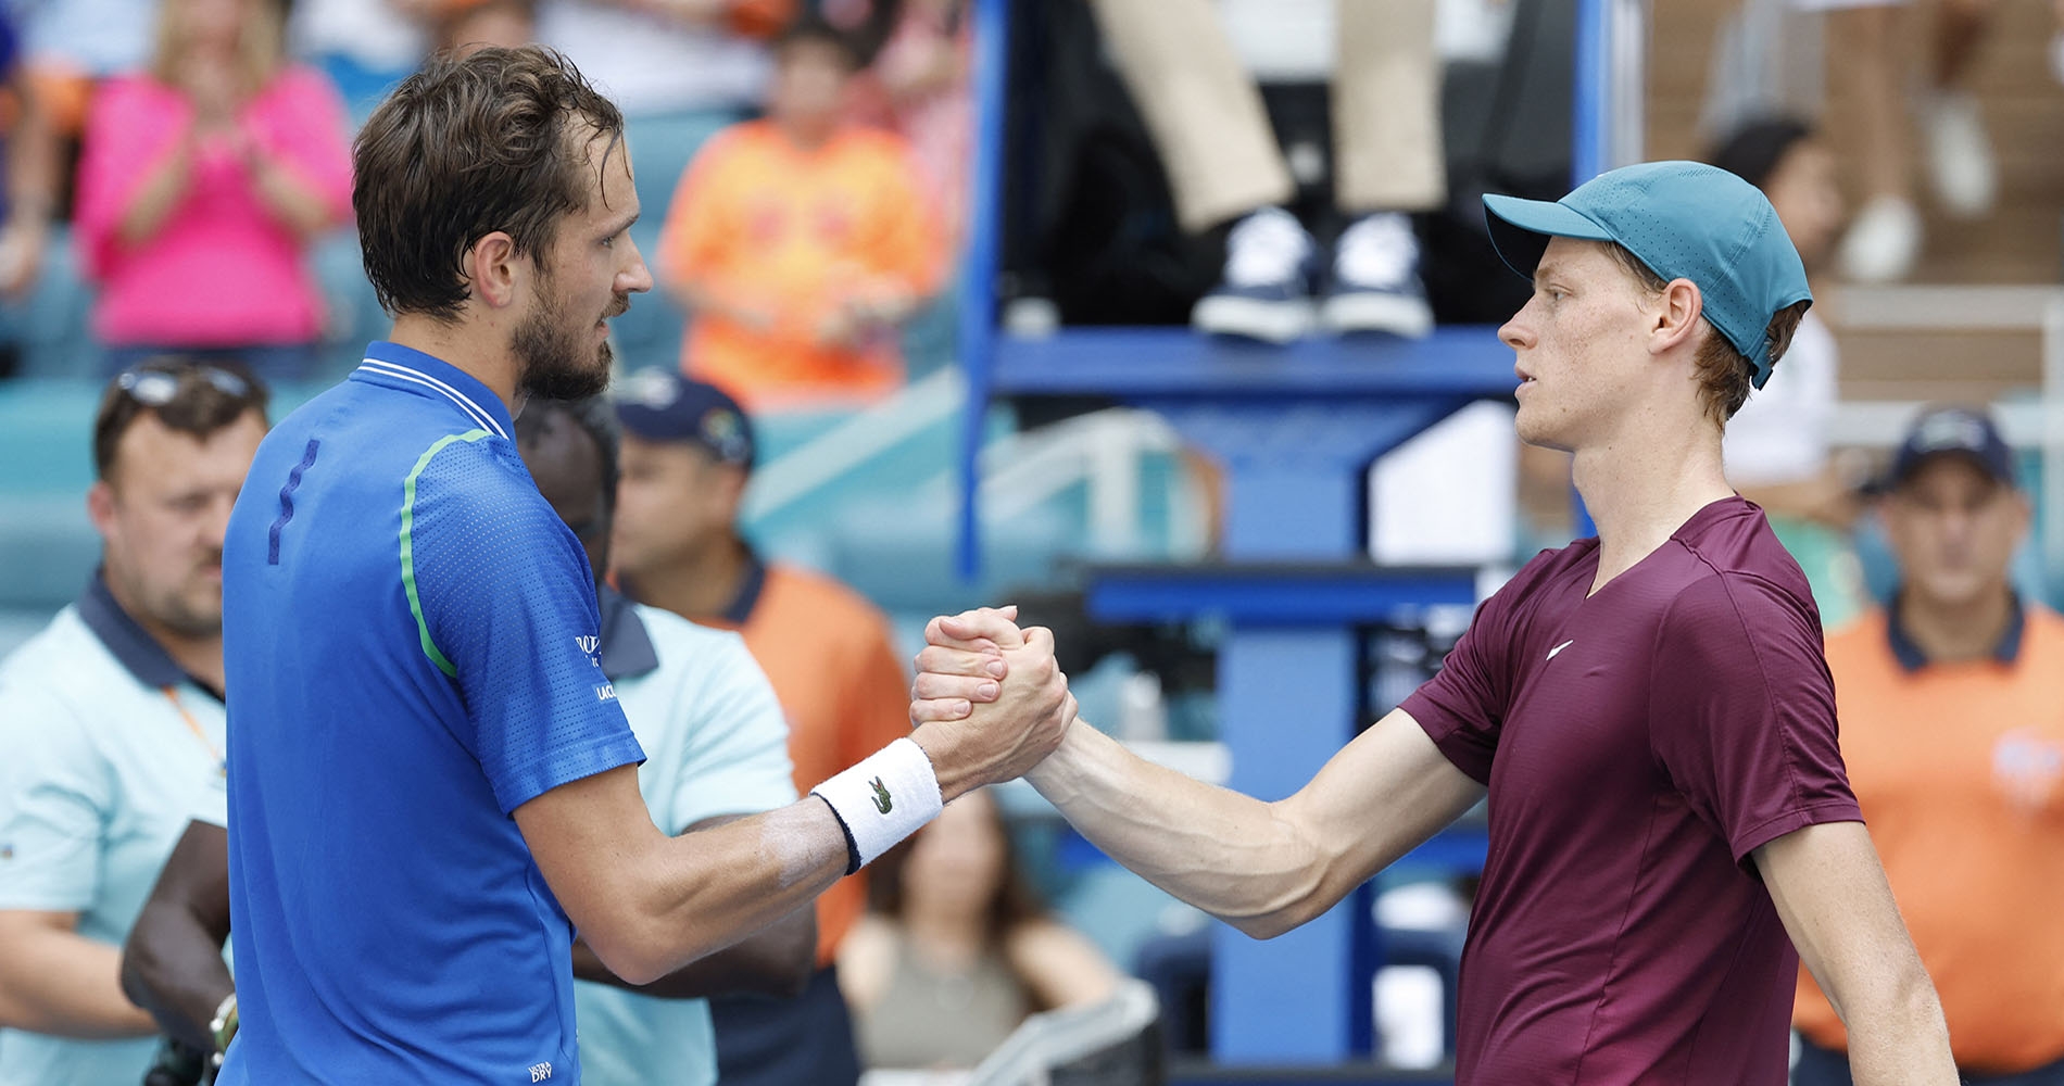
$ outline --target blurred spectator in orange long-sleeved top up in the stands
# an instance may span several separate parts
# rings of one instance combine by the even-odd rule
[[[900,386],[896,328],[945,275],[910,147],[842,120],[857,62],[819,19],[784,31],[766,120],[710,140],[660,227],[663,283],[691,320],[683,372],[753,411]]]

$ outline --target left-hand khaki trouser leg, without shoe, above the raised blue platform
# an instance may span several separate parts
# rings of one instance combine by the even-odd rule
[[[1090,8],[1160,151],[1185,231],[1290,202],[1296,186],[1261,91],[1212,0],[1092,0]]]

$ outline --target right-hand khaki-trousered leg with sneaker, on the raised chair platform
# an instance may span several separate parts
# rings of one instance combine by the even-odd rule
[[[1321,306],[1335,332],[1422,337],[1432,310],[1408,211],[1447,200],[1434,0],[1335,2],[1333,198],[1354,223]]]

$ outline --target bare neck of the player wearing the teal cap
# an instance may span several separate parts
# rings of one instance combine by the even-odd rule
[[[1734,493],[1719,465],[1719,434],[1707,425],[1666,440],[1579,448],[1571,475],[1598,524],[1593,593],[1668,543],[1692,514]]]

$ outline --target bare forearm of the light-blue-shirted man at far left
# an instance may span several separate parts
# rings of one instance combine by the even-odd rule
[[[54,1036],[114,1039],[157,1032],[122,995],[122,952],[72,931],[19,935],[0,948],[0,1024]]]

